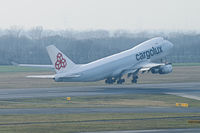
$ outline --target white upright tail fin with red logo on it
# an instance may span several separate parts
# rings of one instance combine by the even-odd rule
[[[47,47],[47,52],[54,66],[56,73],[63,73],[72,70],[76,64],[72,62],[66,55],[58,50],[54,45]]]

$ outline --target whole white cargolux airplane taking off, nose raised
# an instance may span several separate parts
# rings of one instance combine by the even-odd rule
[[[31,75],[29,78],[51,78],[56,82],[92,82],[105,80],[106,84],[122,84],[123,75],[137,83],[139,72],[168,74],[171,63],[153,63],[166,57],[173,44],[162,37],[152,38],[131,49],[98,59],[87,64],[75,64],[54,45],[47,47],[53,65],[19,64],[19,66],[54,68],[54,75]]]

